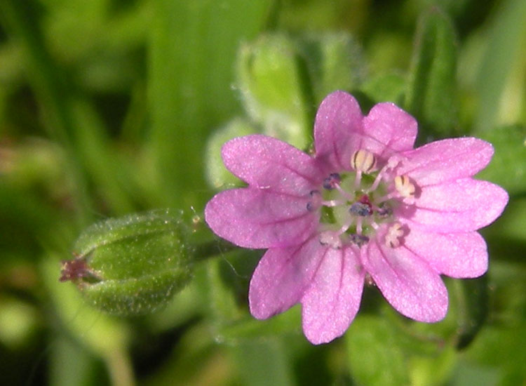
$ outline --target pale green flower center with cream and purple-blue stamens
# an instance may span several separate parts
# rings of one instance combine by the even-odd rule
[[[382,230],[384,244],[400,246],[405,231],[393,215],[393,209],[412,204],[415,186],[407,175],[395,175],[399,159],[391,157],[378,169],[374,154],[360,149],[354,152],[352,171],[331,173],[319,190],[310,192],[308,211],[320,211],[318,237],[332,248],[355,244],[360,248]]]

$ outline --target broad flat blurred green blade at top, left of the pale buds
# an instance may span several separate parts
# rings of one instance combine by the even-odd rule
[[[236,110],[238,44],[262,29],[271,6],[267,0],[156,1],[148,91],[151,154],[165,205],[187,207],[208,195],[205,140]]]

